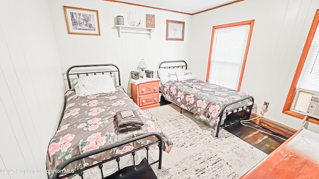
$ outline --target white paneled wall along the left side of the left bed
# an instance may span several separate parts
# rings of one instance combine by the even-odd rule
[[[1,161],[11,179],[46,178],[47,146],[63,107],[63,78],[47,1],[0,6]],[[2,167],[1,167],[2,168]]]

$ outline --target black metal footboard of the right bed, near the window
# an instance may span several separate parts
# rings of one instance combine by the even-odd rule
[[[219,122],[218,122],[217,129],[216,129],[216,137],[218,137],[218,133],[219,133],[219,129],[220,129],[220,128],[224,128],[224,127],[229,126],[229,125],[226,125],[226,119],[227,119],[227,118],[226,118],[225,121],[224,121],[224,125],[221,127],[222,117],[223,117],[224,111],[226,110],[227,106],[232,105],[232,104],[235,104],[235,103],[240,102],[240,101],[243,101],[243,100],[246,100],[246,99],[251,99],[251,101],[252,101],[252,105],[246,106],[245,109],[244,109],[244,108],[242,109],[242,110],[247,111],[248,114],[247,114],[247,115],[244,115],[243,117],[238,117],[234,122],[230,123],[229,125],[235,124],[235,123],[237,123],[237,122],[239,122],[239,121],[241,121],[241,120],[244,120],[244,119],[249,119],[250,114],[251,114],[251,110],[252,110],[252,108],[253,108],[253,106],[254,106],[254,97],[253,97],[253,96],[244,97],[244,98],[242,98],[242,99],[235,100],[235,101],[233,101],[233,102],[227,103],[227,104],[222,108],[222,110],[220,111],[220,114],[219,114]],[[233,111],[234,111],[234,110],[238,110],[238,109],[233,109]],[[233,111],[232,111],[232,112],[233,112]]]

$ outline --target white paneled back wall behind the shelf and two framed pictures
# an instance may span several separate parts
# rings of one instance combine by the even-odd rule
[[[89,3],[85,0],[51,0],[49,3],[63,73],[72,65],[114,63],[121,70],[122,86],[130,94],[130,72],[137,70],[141,58],[146,59],[147,69],[154,71],[161,61],[188,59],[190,15],[104,0],[90,0]],[[63,5],[98,10],[101,36],[68,34]],[[137,19],[141,19],[144,26],[146,14],[155,14],[156,29],[151,39],[149,35],[133,33],[122,33],[119,38],[114,18],[122,15],[128,24],[129,10],[136,10]],[[166,19],[185,22],[184,41],[165,40]]]

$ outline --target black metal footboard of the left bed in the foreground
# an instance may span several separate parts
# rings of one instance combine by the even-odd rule
[[[116,157],[113,157],[111,159],[107,159],[107,160],[104,160],[104,161],[101,161],[95,165],[92,165],[92,166],[88,166],[88,167],[85,167],[83,169],[79,169],[77,171],[74,171],[73,173],[68,173],[68,174],[60,174],[58,173],[59,171],[62,171],[67,165],[71,164],[72,162],[75,162],[75,161],[78,161],[78,160],[81,160],[81,159],[84,159],[86,157],[89,157],[89,156],[92,156],[92,155],[95,155],[95,154],[98,154],[98,153],[101,153],[101,152],[104,152],[104,151],[108,151],[110,149],[113,149],[113,148],[116,148],[116,147],[119,147],[119,146],[122,146],[122,145],[125,145],[125,144],[128,144],[128,143],[131,143],[131,142],[134,142],[134,141],[138,141],[140,139],[143,139],[143,138],[146,138],[146,137],[149,137],[149,136],[156,136],[158,138],[157,141],[153,142],[153,143],[150,143],[150,144],[147,144],[147,145],[144,145],[144,146],[141,146],[137,149],[134,149],[128,153],[125,153],[125,154],[121,154],[121,155],[118,155]],[[66,178],[66,177],[70,177],[70,176],[75,176],[75,175],[79,175],[82,179],[83,179],[83,171],[85,170],[88,170],[88,169],[91,169],[93,167],[96,167],[96,166],[99,166],[100,170],[101,170],[101,176],[102,176],[102,179],[104,178],[103,176],[103,171],[102,171],[102,167],[103,167],[103,164],[106,163],[106,162],[109,162],[109,161],[112,161],[112,160],[116,160],[117,163],[118,163],[118,170],[120,170],[120,157],[123,157],[125,155],[129,155],[129,154],[132,154],[133,156],[133,165],[135,166],[135,152],[138,151],[138,150],[141,150],[141,149],[146,149],[147,150],[147,160],[149,161],[149,147],[151,145],[154,145],[154,144],[159,144],[159,160],[149,164],[150,166],[153,165],[153,164],[156,164],[156,163],[159,163],[159,169],[161,169],[161,161],[162,161],[162,145],[163,145],[163,139],[161,137],[161,135],[159,133],[156,133],[156,132],[151,132],[151,133],[147,133],[147,134],[144,134],[144,135],[141,135],[141,136],[138,136],[138,137],[135,137],[135,138],[132,138],[132,139],[128,139],[128,140],[125,140],[125,141],[122,141],[122,142],[119,142],[119,143],[115,143],[115,144],[112,144],[112,145],[109,145],[107,147],[103,147],[103,148],[100,148],[100,149],[97,149],[97,150],[94,150],[94,151],[90,151],[90,152],[87,152],[87,153],[84,153],[84,154],[81,154],[81,155],[78,155],[78,156],[74,156],[72,158],[70,158],[69,160],[63,162],[62,164],[58,165],[55,172],[52,176],[52,179],[63,179],[63,178]]]

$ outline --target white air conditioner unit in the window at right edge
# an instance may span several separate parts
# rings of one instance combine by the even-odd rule
[[[297,89],[291,110],[319,119],[319,94]]]

